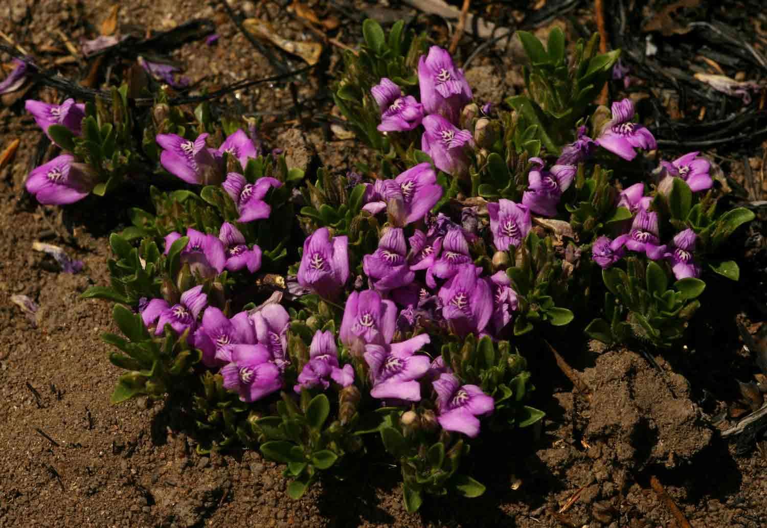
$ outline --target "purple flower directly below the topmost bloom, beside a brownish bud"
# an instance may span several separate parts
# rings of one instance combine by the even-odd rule
[[[431,156],[437,169],[461,176],[469,170],[466,145],[474,146],[469,130],[459,130],[443,116],[432,114],[423,118],[426,131],[421,136],[421,149]]]

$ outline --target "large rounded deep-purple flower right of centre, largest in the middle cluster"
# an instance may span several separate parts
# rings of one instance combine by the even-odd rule
[[[458,336],[479,335],[492,316],[492,291],[474,264],[466,264],[439,289],[442,314]]]

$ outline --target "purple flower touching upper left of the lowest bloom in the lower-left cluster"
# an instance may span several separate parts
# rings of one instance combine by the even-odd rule
[[[247,312],[232,319],[216,307],[207,307],[202,314],[202,326],[194,335],[195,346],[202,350],[205,366],[218,366],[232,361],[231,345],[255,344],[255,331]]]

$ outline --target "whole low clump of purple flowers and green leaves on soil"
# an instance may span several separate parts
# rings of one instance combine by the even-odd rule
[[[524,357],[542,333],[673,349],[704,280],[738,279],[723,244],[753,215],[719,210],[699,152],[656,152],[640,181],[613,171],[656,143],[632,100],[592,104],[618,57],[594,39],[568,67],[561,31],[547,47],[520,32],[528,93],[504,110],[401,22],[364,36],[334,96],[377,166],[304,174],[252,123],[163,93],[136,145],[123,87],[110,113],[28,103],[64,152],[27,188],[69,204],[154,163],[153,211],[130,209],[110,286],[84,294],[115,302],[113,402],[185,395],[200,451],[258,447],[295,498],[386,451],[415,511],[482,494],[472,443],[542,418]]]

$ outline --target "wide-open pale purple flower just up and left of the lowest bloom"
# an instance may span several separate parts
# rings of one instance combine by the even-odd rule
[[[429,370],[429,356],[415,356],[426,343],[430,343],[425,333],[402,343],[391,345],[365,346],[365,362],[370,367],[370,379],[374,398],[390,398],[406,402],[418,402],[421,399],[421,386],[416,379]]]

